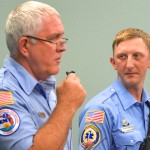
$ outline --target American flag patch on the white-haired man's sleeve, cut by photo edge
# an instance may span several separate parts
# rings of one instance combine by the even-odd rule
[[[14,104],[12,93],[10,91],[0,92],[0,106]]]

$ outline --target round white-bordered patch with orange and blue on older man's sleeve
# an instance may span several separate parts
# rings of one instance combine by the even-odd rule
[[[20,118],[16,112],[11,109],[0,110],[0,135],[13,134],[20,125]]]

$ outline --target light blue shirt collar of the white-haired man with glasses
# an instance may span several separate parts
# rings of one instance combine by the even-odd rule
[[[27,93],[30,94],[35,88],[38,81],[31,76],[31,74],[18,62],[16,62],[11,57],[6,57],[4,60],[4,67],[10,71],[10,73],[16,78],[21,88]],[[49,77],[45,81],[41,81],[41,84],[51,84],[55,87],[55,78]]]

